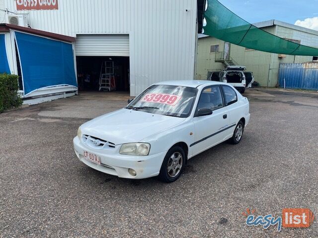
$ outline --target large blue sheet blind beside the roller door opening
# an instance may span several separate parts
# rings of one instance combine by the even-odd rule
[[[24,95],[43,87],[77,87],[71,44],[15,32],[23,75]]]

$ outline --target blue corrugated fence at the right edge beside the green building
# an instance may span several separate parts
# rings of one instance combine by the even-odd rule
[[[318,90],[318,63],[281,63],[278,82],[282,88]]]

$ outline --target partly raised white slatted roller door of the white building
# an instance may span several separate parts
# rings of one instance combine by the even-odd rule
[[[77,35],[76,56],[129,56],[129,35]]]

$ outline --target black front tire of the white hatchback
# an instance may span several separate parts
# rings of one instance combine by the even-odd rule
[[[179,163],[180,163],[180,159],[178,159],[179,155],[181,156],[181,160],[182,160],[181,167],[176,168],[179,166]],[[172,164],[176,162],[172,161],[171,157],[174,157],[176,160],[178,160],[178,164]],[[177,180],[182,174],[183,168],[185,167],[186,159],[187,158],[185,156],[185,152],[181,147],[174,146],[171,149],[169,149],[169,151],[165,155],[164,160],[162,162],[160,173],[159,173],[159,179],[163,182],[174,182],[175,180]],[[169,172],[168,172],[168,166],[169,167],[172,166],[172,170],[170,170]],[[175,176],[173,176],[173,172],[175,172]]]

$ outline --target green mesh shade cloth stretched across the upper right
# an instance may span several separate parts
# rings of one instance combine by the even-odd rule
[[[318,56],[318,49],[300,45],[259,29],[230,11],[218,0],[207,0],[204,34],[245,48],[270,53]]]

